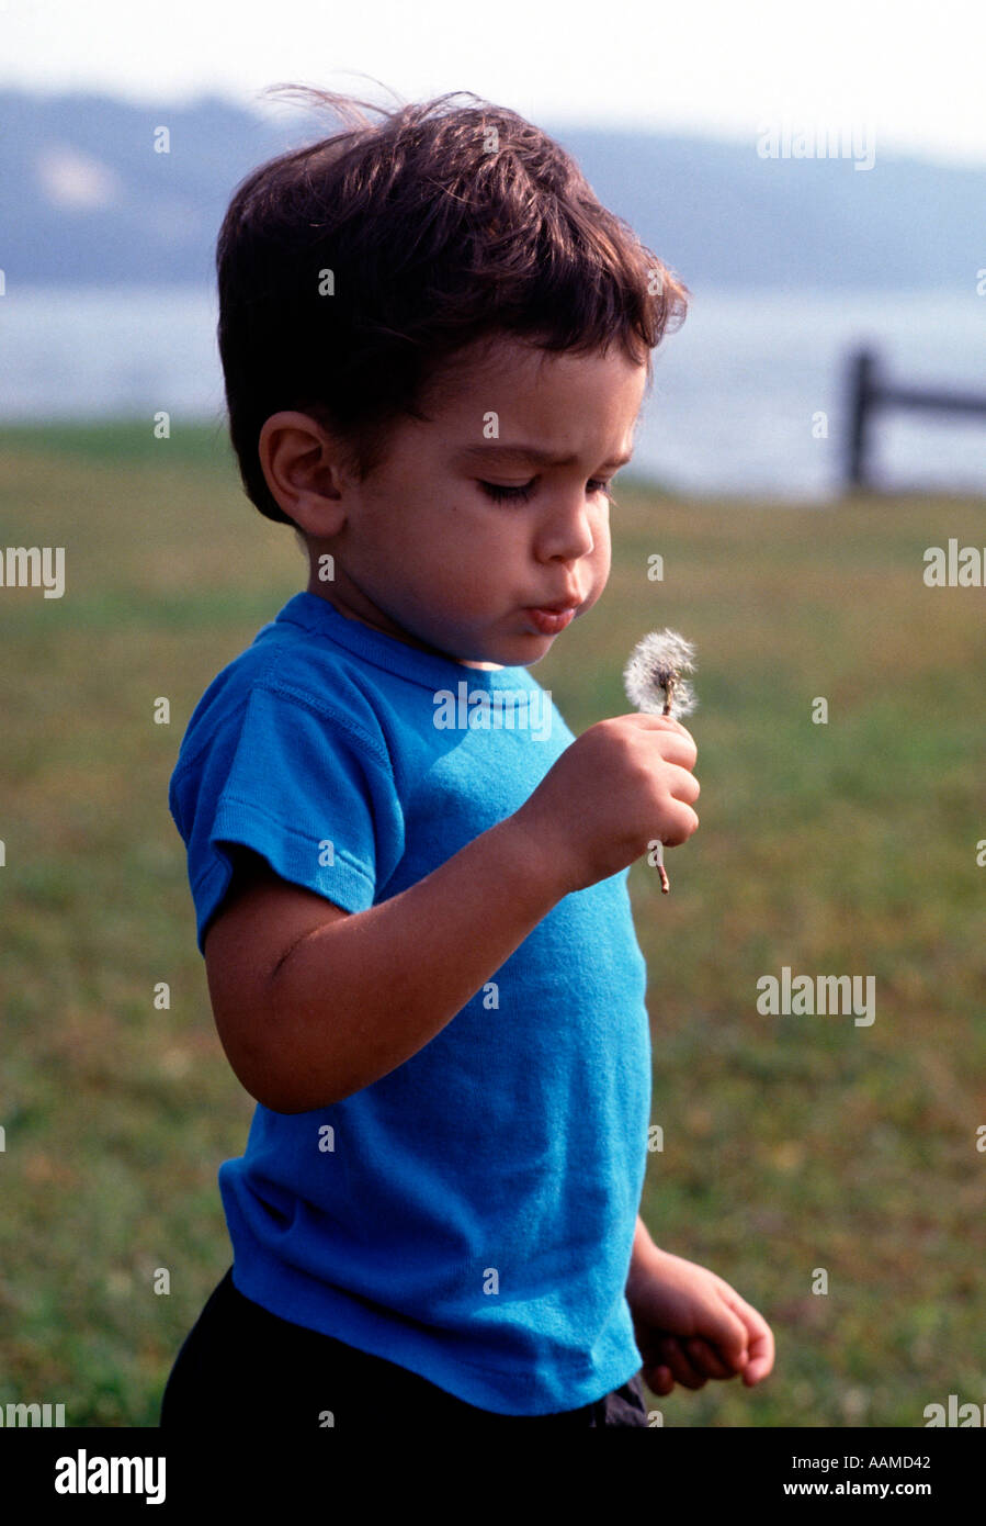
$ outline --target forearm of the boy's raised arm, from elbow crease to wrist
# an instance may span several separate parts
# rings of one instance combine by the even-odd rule
[[[309,932],[267,992],[276,1111],[329,1106],[402,1065],[564,894],[507,816],[399,896]]]

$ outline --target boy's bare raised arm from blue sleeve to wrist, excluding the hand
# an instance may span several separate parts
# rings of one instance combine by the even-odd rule
[[[204,945],[230,1065],[274,1112],[360,1091],[424,1048],[564,894],[517,816],[355,914],[250,855]]]

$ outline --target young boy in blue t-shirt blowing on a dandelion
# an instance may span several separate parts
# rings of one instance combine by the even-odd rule
[[[658,1395],[773,1367],[637,1216],[626,879],[698,826],[695,743],[646,714],[576,740],[527,668],[603,592],[686,291],[512,111],[312,95],[347,130],[255,171],[218,244],[244,487],[309,580],[171,781],[258,1108],[162,1424],[646,1425],[642,1364]]]

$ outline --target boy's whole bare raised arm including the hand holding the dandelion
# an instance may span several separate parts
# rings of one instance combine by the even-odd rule
[[[233,887],[204,940],[216,1029],[250,1096],[309,1112],[402,1065],[562,896],[619,873],[652,838],[692,835],[693,766],[695,742],[671,717],[600,720],[512,816],[354,914],[255,856],[253,881]]]

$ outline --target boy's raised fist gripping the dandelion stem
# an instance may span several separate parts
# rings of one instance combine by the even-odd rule
[[[613,716],[568,746],[514,819],[539,845],[565,891],[585,890],[658,839],[698,827],[695,740],[671,716]]]

